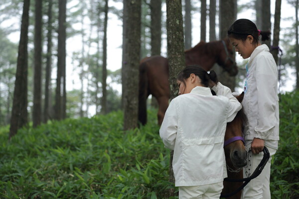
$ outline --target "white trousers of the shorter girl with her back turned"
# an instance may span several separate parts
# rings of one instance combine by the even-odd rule
[[[201,186],[178,187],[179,199],[219,199],[223,182]]]

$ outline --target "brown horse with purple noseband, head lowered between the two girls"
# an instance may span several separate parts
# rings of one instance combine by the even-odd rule
[[[241,103],[244,92],[236,98]],[[247,164],[247,152],[242,138],[242,124],[246,122],[246,116],[242,109],[237,113],[233,121],[227,123],[224,136],[224,153],[227,168],[227,176],[230,179],[242,179],[242,168]],[[222,195],[236,191],[243,182],[223,182]],[[241,199],[242,191],[227,199]]]

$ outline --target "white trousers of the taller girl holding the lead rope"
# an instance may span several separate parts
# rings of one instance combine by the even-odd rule
[[[247,145],[247,150],[249,150],[251,143]],[[243,189],[242,192],[242,199],[271,199],[270,194],[270,172],[271,172],[271,160],[272,155],[276,153],[276,149],[267,147],[270,153],[270,158],[265,165],[262,173],[256,177],[255,179],[251,180]],[[258,167],[261,160],[263,159],[264,152],[259,154],[252,154],[251,155],[251,174],[254,170]],[[245,169],[243,169],[243,176],[246,178]]]

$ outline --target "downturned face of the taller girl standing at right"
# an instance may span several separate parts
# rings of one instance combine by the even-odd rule
[[[255,49],[255,45],[253,44],[253,36],[251,35],[248,35],[245,41],[232,37],[230,37],[229,40],[235,47],[236,52],[238,52],[243,59],[249,58]]]

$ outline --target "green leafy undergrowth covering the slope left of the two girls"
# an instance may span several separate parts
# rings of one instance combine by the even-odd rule
[[[124,132],[122,121],[119,111],[20,129],[0,145],[0,198],[162,199],[173,185],[158,125]]]

